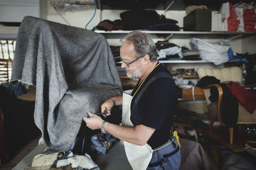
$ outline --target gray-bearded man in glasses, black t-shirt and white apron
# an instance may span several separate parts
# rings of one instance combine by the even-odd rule
[[[177,106],[175,83],[170,72],[157,62],[154,41],[143,32],[131,32],[122,39],[120,57],[127,76],[139,81],[131,96],[124,93],[111,97],[102,104],[101,110],[123,104],[122,126],[92,113],[83,120],[90,129],[101,129],[124,140],[125,153],[133,169],[179,169],[179,141],[177,134],[176,138],[170,134]],[[149,152],[138,156],[145,151],[138,152],[142,148]],[[144,160],[136,162],[134,157]]]

